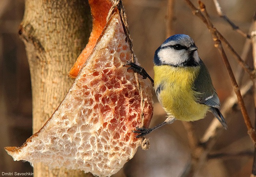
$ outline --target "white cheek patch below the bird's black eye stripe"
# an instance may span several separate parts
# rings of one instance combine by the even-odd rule
[[[179,65],[187,60],[188,55],[183,51],[174,51],[170,49],[161,49],[158,52],[158,58],[162,64]]]

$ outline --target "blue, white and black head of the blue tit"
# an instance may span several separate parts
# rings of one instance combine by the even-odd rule
[[[196,50],[193,39],[188,35],[173,35],[155,51],[154,64],[175,67],[198,66],[200,59]]]

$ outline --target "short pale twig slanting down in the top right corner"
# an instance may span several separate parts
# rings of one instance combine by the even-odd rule
[[[222,8],[221,8],[221,5],[219,4],[219,1],[218,1],[218,0],[213,0],[213,2],[214,2],[214,5],[215,5],[215,7],[216,7],[216,11],[217,11],[218,15],[219,15],[220,17],[222,17],[225,21],[227,21],[227,23],[230,24],[230,26],[233,28],[233,30],[235,30],[238,34],[244,36],[245,38],[248,38],[248,39],[251,38],[251,36],[250,36],[249,34],[246,34],[246,33],[243,32],[242,30],[240,30],[240,28],[239,28],[236,24],[234,24],[234,23],[229,19],[229,17],[227,17],[227,15],[226,15],[225,13],[223,13]]]

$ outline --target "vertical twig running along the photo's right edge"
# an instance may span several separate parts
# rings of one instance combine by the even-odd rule
[[[253,25],[254,29],[251,32],[251,40],[252,40],[252,56],[253,56],[253,67],[256,68],[256,13],[253,17]],[[256,126],[256,82],[253,80],[253,103],[254,103],[254,112],[255,112],[255,122],[254,126]],[[254,156],[253,156],[253,165],[252,165],[252,176],[256,176],[256,147],[254,148]]]

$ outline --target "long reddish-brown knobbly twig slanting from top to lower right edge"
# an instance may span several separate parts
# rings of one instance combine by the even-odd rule
[[[229,64],[229,61],[227,59],[227,55],[222,47],[222,44],[221,44],[221,40],[219,40],[219,37],[218,37],[218,34],[216,32],[216,28],[212,25],[211,21],[210,21],[210,18],[209,18],[209,15],[206,11],[206,7],[204,5],[204,3],[202,3],[202,1],[199,1],[199,6],[200,6],[200,10],[202,12],[204,12],[204,15],[206,17],[206,20],[207,20],[207,23],[208,25],[210,26],[210,31],[211,31],[211,34],[212,34],[212,39],[215,41],[215,47],[218,48],[219,50],[219,53],[221,54],[222,56],[222,59],[223,59],[223,62],[226,66],[226,69],[227,69],[227,72],[229,73],[229,77],[230,77],[230,80],[231,80],[231,83],[232,83],[232,86],[234,88],[234,91],[237,95],[237,99],[238,99],[238,105],[240,106],[241,108],[241,112],[242,112],[242,115],[243,115],[243,118],[244,118],[244,122],[245,122],[245,125],[248,129],[248,134],[249,136],[251,137],[252,141],[253,141],[253,144],[255,145],[256,143],[256,133],[255,133],[255,129],[253,128],[252,126],[252,123],[251,123],[251,120],[249,118],[249,115],[247,113],[247,110],[246,110],[246,107],[245,107],[245,104],[244,104],[244,100],[242,98],[242,95],[241,95],[241,92],[240,92],[240,88],[236,82],[236,78],[233,74],[233,71],[232,71],[232,68]]]

